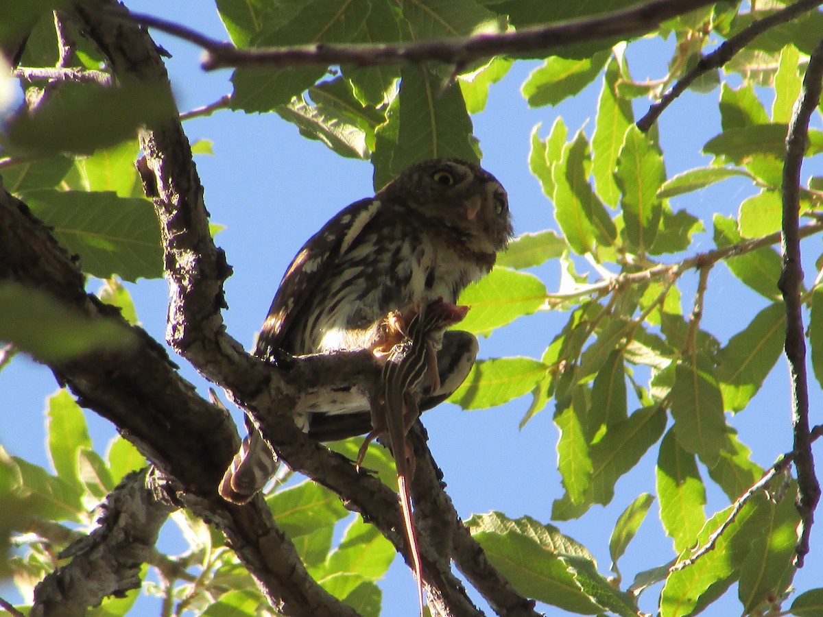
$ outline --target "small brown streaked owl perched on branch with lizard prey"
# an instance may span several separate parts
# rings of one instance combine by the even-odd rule
[[[495,177],[458,159],[412,165],[374,197],[347,206],[300,248],[277,289],[254,355],[306,355],[371,349],[389,313],[460,292],[484,276],[512,235],[509,202]],[[477,355],[468,332],[439,341],[437,373],[421,411],[460,385]],[[327,401],[295,422],[331,441],[369,433],[369,401]],[[246,503],[276,470],[272,452],[249,420],[220,485],[231,502]]]

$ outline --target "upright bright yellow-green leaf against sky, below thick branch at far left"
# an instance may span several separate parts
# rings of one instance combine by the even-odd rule
[[[46,405],[46,432],[52,466],[58,478],[79,488],[77,455],[81,450],[91,448],[86,416],[74,397],[65,390],[58,390],[49,397]]]

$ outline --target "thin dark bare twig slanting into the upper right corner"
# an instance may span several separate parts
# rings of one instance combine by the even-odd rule
[[[798,0],[798,2],[781,11],[774,12],[768,17],[755,21],[751,26],[744,28],[738,32],[737,35],[724,41],[723,44],[720,44],[712,53],[702,56],[695,67],[677,80],[677,83],[672,86],[657,103],[652,104],[652,106],[649,107],[649,111],[646,112],[646,115],[637,121],[637,128],[643,132],[648,131],[660,114],[663,114],[663,110],[666,109],[673,100],[683,94],[686,88],[691,86],[698,77],[728,63],[737,52],[746,47],[747,44],[750,44],[757,36],[774,26],[785,23],[786,21],[791,21],[802,13],[811,11],[811,9],[821,4],[823,4],[821,0]]]

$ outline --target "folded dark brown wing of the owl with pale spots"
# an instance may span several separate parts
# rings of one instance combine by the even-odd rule
[[[379,205],[380,202],[374,197],[367,197],[346,206],[300,248],[280,281],[272,306],[260,328],[254,355],[269,358],[283,346],[295,316],[316,293],[320,281],[328,276],[337,259],[351,248]],[[311,350],[300,351],[309,353]]]

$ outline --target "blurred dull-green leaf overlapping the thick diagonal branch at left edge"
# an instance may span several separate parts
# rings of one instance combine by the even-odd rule
[[[92,350],[115,350],[135,342],[113,319],[90,318],[17,283],[0,283],[0,341],[13,343],[41,362],[68,360]]]

